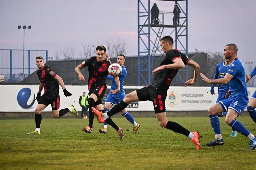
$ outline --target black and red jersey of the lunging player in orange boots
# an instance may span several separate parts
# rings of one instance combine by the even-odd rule
[[[176,58],[181,58],[180,52],[177,49],[168,50],[160,66],[173,64],[173,60]],[[159,90],[167,91],[178,70],[179,69],[164,69],[156,72],[151,85]]]

